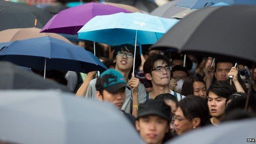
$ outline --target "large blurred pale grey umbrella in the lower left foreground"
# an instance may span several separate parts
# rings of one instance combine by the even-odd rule
[[[21,144],[143,144],[114,105],[60,91],[0,91],[0,139]]]

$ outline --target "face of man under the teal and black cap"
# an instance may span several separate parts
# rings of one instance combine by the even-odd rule
[[[125,101],[125,98],[126,98],[125,89],[126,88],[123,87],[119,89],[117,92],[115,92],[114,94],[104,89],[102,92],[103,95],[101,95],[99,91],[97,91],[97,98],[100,101],[107,101],[107,102],[113,103],[117,108],[121,110],[123,106],[123,102]]]

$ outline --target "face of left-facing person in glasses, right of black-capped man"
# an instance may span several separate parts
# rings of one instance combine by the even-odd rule
[[[177,135],[181,135],[193,128],[192,122],[184,116],[181,107],[178,107],[177,111],[175,112],[175,117],[176,119],[174,121],[174,126]]]

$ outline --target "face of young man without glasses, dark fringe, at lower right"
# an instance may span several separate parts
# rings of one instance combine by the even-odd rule
[[[226,108],[226,98],[221,96],[217,96],[212,91],[208,94],[208,107],[210,114],[213,117],[220,118],[224,115],[225,108]]]

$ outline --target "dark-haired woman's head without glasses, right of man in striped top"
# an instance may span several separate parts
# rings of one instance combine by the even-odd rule
[[[189,77],[184,80],[181,94],[199,96],[206,100],[206,83],[201,78]]]

